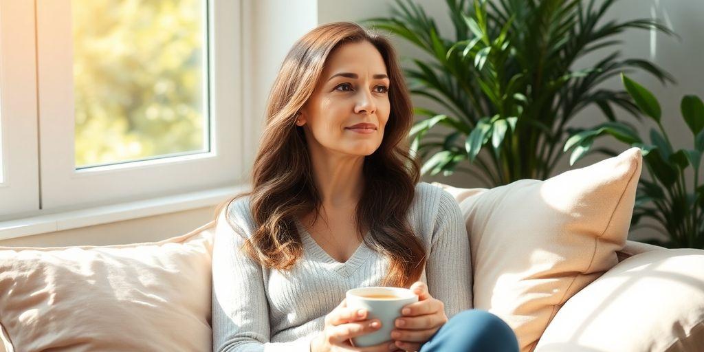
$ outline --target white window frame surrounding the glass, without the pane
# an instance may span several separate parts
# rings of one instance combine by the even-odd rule
[[[13,26],[18,23],[34,23],[32,1],[0,1],[3,1],[2,12],[5,12],[6,8],[10,8],[11,11],[8,12],[15,11],[7,4],[14,4],[15,7],[20,7],[18,4],[30,4],[28,6],[32,8],[32,18],[28,21],[13,21]],[[29,148],[23,151],[22,155],[15,155],[15,159],[10,158],[8,163],[10,172],[13,172],[15,169],[13,161],[23,159],[17,164],[27,170],[15,170],[15,172],[21,171],[22,175],[28,175],[27,179],[30,180],[23,181],[34,184],[34,189],[27,188],[30,186],[23,189],[18,184],[11,184],[12,187],[9,188],[19,189],[20,193],[11,194],[8,198],[0,194],[0,199],[3,199],[0,201],[0,207],[3,207],[0,208],[0,220],[11,220],[16,217],[8,218],[4,215],[27,211],[30,208],[34,211],[28,215],[38,216],[152,199],[158,196],[232,187],[244,180],[244,163],[241,157],[245,135],[241,114],[241,4],[239,1],[230,0],[209,0],[208,2],[210,151],[75,170],[71,1],[37,1],[36,43],[39,48],[36,56],[37,66],[34,68],[29,61],[18,61],[11,63],[15,67],[9,67],[7,70],[32,66],[32,69],[36,70],[38,80],[28,80],[28,77],[18,77],[15,80],[8,79],[9,77],[2,79],[3,88],[13,82],[13,87],[21,85],[16,82],[23,82],[23,84],[38,82],[39,84],[38,88],[27,89],[24,92],[27,96],[35,98],[38,96],[38,103],[36,101],[34,103],[35,115],[30,118],[34,120],[34,125],[25,123],[25,133],[34,136],[34,143],[32,143],[34,150]],[[26,8],[23,8],[23,11],[26,12]],[[6,15],[17,14],[7,13]],[[2,30],[5,38],[6,28],[3,27]],[[19,28],[15,29],[15,31],[19,30]],[[11,34],[8,33],[8,35]],[[24,34],[24,37],[27,37],[27,34]],[[33,37],[30,43],[34,43]],[[6,55],[2,54],[2,57],[5,60]],[[29,54],[25,56],[25,58],[29,57]],[[32,58],[34,58],[33,54]],[[4,92],[7,91],[4,89]],[[3,103],[7,103],[7,100]],[[39,107],[39,154],[37,154],[36,142],[37,106]],[[4,106],[3,112],[11,108],[12,106],[9,108]],[[30,103],[14,110],[25,114],[32,113],[28,108]],[[11,116],[10,120],[10,123],[16,124],[19,121],[15,120],[20,119]],[[7,119],[4,119],[4,122],[7,122]],[[13,127],[10,126],[14,131]],[[8,129],[4,128],[4,130]],[[4,137],[7,134],[4,134]],[[13,139],[9,139],[8,142],[11,144],[5,144],[7,149],[4,150],[23,149],[18,141],[13,142]],[[37,161],[37,155],[39,155],[41,172],[37,172],[37,165],[31,168],[32,161]],[[41,180],[37,180],[39,174],[42,175]],[[9,180],[21,179],[13,175],[9,174],[12,177]],[[31,180],[32,178],[34,180]],[[41,192],[38,191],[39,184]],[[9,203],[20,199],[30,201],[18,210],[6,210],[5,204],[8,203],[6,199],[11,200]],[[23,215],[27,216],[27,213]]]

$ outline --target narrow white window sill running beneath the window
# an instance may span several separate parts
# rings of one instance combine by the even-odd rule
[[[3,221],[0,222],[0,241],[109,222],[146,218],[206,206],[217,206],[225,199],[246,191],[248,187],[248,185],[241,184],[234,187],[208,189],[143,201]]]

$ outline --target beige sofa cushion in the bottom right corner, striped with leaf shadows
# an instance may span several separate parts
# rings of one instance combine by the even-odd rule
[[[662,249],[624,260],[570,298],[536,351],[703,349],[704,251]]]

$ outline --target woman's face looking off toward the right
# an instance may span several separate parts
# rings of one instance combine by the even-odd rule
[[[387,75],[382,55],[370,42],[332,51],[296,122],[304,127],[308,146],[353,156],[374,153],[389,120]]]

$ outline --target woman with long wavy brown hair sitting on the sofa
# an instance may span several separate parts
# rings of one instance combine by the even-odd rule
[[[355,23],[294,44],[272,87],[250,193],[213,244],[213,351],[517,351],[472,308],[470,247],[446,191],[419,183],[410,99],[389,41]],[[346,306],[354,287],[410,287],[391,340]],[[450,318],[448,320],[448,318]]]

